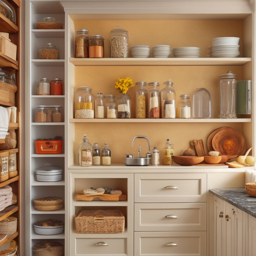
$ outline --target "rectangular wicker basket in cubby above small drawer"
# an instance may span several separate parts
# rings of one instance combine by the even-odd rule
[[[120,210],[82,210],[75,216],[77,233],[122,233],[124,216]]]

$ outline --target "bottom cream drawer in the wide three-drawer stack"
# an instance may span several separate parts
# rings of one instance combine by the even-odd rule
[[[205,256],[206,231],[134,232],[134,256]]]

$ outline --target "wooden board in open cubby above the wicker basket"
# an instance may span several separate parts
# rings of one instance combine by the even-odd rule
[[[111,195],[111,194],[91,194],[85,195],[83,193],[76,194],[77,201],[126,201],[126,195]]]

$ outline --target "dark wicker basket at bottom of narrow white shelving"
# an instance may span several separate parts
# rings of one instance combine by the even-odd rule
[[[63,256],[63,244],[55,241],[41,241],[33,247],[34,256]]]

